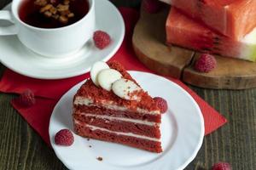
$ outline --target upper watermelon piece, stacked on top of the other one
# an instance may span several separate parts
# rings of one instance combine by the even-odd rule
[[[256,26],[255,0],[161,0],[214,31],[240,40]]]

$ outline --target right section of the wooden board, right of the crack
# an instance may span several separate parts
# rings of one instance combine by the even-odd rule
[[[256,87],[256,64],[249,61],[220,57],[216,55],[217,68],[209,73],[200,73],[192,65],[183,71],[183,82],[201,88],[245,89]]]

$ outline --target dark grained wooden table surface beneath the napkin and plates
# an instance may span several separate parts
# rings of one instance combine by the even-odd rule
[[[10,0],[1,0],[0,8]],[[139,0],[113,0],[117,6],[138,8]],[[1,53],[1,52],[0,52]],[[0,77],[4,66],[0,64]],[[234,170],[256,169],[256,89],[211,90],[190,87],[228,123],[207,135],[186,169],[210,169],[214,162],[228,161]],[[0,93],[0,170],[67,169],[43,139],[10,105],[15,94]]]

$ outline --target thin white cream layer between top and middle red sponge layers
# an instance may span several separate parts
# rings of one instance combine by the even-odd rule
[[[148,122],[148,121],[143,121],[139,119],[131,119],[131,118],[126,118],[126,117],[117,117],[117,116],[104,116],[104,115],[94,115],[90,113],[79,113],[80,115],[84,116],[91,116],[94,118],[100,118],[100,119],[107,119],[109,121],[124,121],[124,122],[133,122],[137,124],[143,124],[143,125],[148,125],[148,126],[159,126],[159,123],[157,122]]]

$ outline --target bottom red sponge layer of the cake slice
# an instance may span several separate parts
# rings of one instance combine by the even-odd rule
[[[138,149],[148,150],[156,153],[162,151],[160,142],[151,141],[148,139],[139,139],[125,135],[117,135],[108,133],[101,130],[90,130],[89,127],[83,127],[79,124],[74,124],[74,129],[79,136],[91,139],[100,139],[108,142],[129,145]]]

